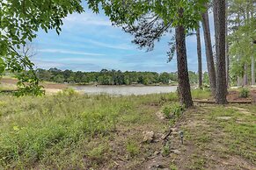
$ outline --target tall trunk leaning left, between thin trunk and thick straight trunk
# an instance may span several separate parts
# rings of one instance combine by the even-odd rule
[[[202,14],[202,28],[205,41],[205,52],[208,68],[209,85],[213,96],[216,96],[216,69],[214,56],[211,45],[209,23],[208,23],[208,11]]]

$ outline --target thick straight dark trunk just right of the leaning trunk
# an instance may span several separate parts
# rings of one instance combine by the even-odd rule
[[[216,44],[216,49],[218,50],[217,58],[216,58],[216,103],[218,104],[226,104],[227,101],[227,83],[226,83],[226,65],[225,65],[225,26],[226,25],[226,4],[225,0],[214,0],[214,4],[217,9],[217,39],[218,43]]]

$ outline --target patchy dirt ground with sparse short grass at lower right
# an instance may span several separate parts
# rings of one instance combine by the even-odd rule
[[[205,104],[187,110],[172,128],[170,154],[164,157],[161,151],[155,151],[138,168],[255,170],[255,109],[252,105]],[[180,131],[184,132],[183,145]]]

